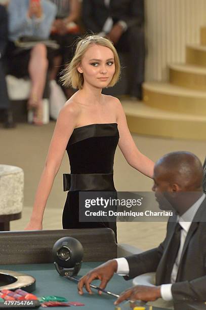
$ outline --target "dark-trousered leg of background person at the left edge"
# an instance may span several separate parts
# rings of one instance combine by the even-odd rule
[[[14,128],[11,102],[9,100],[7,83],[3,62],[0,60],[0,109],[3,112],[3,121],[5,128]]]

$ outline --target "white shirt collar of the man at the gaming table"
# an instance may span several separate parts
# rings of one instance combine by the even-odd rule
[[[205,193],[202,194],[202,196],[184,213],[182,216],[177,217],[177,221],[182,226],[182,228],[188,232],[190,225],[192,223],[192,220],[199,209],[201,203],[203,202],[205,198]]]

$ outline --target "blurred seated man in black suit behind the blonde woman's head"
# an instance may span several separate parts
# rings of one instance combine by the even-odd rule
[[[144,0],[83,0],[83,22],[87,30],[108,36],[118,52],[128,52],[128,94],[142,98],[144,81]]]

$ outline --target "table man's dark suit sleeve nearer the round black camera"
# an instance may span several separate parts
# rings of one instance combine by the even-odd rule
[[[128,276],[124,277],[125,280],[133,279],[142,274],[156,272],[163,253],[163,244],[164,242],[158,248],[126,257],[130,272]]]

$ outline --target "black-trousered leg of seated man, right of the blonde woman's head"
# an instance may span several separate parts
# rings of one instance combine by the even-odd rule
[[[144,28],[133,26],[122,34],[116,45],[117,51],[129,53],[128,93],[131,98],[142,99],[142,83],[145,71],[145,36]]]

